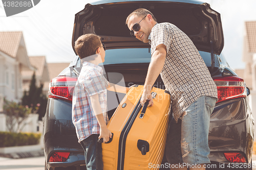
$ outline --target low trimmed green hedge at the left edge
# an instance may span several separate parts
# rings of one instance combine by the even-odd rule
[[[38,144],[40,137],[40,133],[0,132],[0,147]]]

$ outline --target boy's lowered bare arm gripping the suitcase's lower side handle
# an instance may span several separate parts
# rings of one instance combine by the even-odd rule
[[[92,108],[94,111],[94,114],[98,120],[99,126],[100,126],[100,133],[99,133],[99,139],[103,138],[103,143],[108,142],[110,140],[110,137],[112,137],[111,131],[106,127],[106,122],[104,120],[103,114],[101,112],[101,107],[99,103],[99,94],[94,94],[90,96]]]

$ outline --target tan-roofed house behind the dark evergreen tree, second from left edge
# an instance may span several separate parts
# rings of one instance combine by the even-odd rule
[[[42,93],[48,96],[48,90],[45,89],[45,82],[49,82],[49,71],[48,71],[48,64],[46,62],[45,56],[35,56],[29,57],[29,61],[32,66],[36,68],[35,71],[35,79],[36,79],[36,86],[40,87],[40,84],[43,84]],[[33,76],[33,70],[23,70],[22,71],[22,78],[23,78],[23,91],[29,91],[31,79]],[[47,86],[48,88],[48,86]]]

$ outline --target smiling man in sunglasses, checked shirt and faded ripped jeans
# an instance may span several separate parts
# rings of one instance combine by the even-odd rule
[[[151,88],[159,74],[172,95],[173,118],[166,140],[166,158],[171,169],[205,169],[210,114],[218,99],[217,87],[196,46],[171,23],[157,23],[146,9],[137,9],[126,18],[133,37],[151,44],[141,104],[150,100]],[[179,166],[182,163],[187,166]],[[191,166],[194,165],[194,166]],[[172,168],[174,167],[174,168]]]

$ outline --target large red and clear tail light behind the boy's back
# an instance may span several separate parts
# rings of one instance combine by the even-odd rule
[[[72,101],[77,78],[59,76],[52,79],[49,85],[49,98]]]

